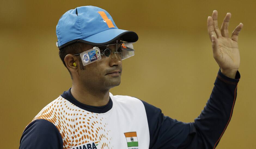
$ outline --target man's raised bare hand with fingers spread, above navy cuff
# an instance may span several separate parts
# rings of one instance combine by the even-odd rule
[[[240,23],[232,32],[231,38],[228,36],[228,23],[231,13],[227,13],[221,25],[218,28],[218,12],[213,11],[212,17],[208,17],[207,26],[210,40],[212,41],[213,57],[220,66],[221,72],[230,78],[235,78],[240,65],[240,54],[238,49],[238,34],[243,27]]]

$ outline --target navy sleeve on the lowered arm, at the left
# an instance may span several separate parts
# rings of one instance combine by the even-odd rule
[[[62,149],[63,140],[57,127],[45,119],[32,121],[23,131],[19,149]]]

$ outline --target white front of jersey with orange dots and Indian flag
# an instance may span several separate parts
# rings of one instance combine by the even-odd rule
[[[59,96],[33,121],[45,119],[53,123],[61,134],[63,148],[149,148],[148,122],[142,101],[111,93],[109,96],[113,106],[105,113],[86,111]]]

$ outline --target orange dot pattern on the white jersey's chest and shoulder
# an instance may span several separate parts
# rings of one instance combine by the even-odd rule
[[[36,119],[45,119],[57,127],[63,149],[96,141],[101,149],[113,148],[104,115],[81,109],[61,96],[45,106],[32,121]]]

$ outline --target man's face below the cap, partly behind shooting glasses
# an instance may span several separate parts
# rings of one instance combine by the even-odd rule
[[[95,46],[87,45],[83,51],[87,51],[93,47]],[[105,48],[106,47],[103,46],[104,50]],[[101,56],[101,60],[82,66],[84,70],[78,69],[78,81],[83,83],[85,87],[97,90],[108,90],[120,85],[122,73],[121,57],[113,53],[114,50],[116,50],[116,45],[111,45],[108,48],[111,50],[109,57]]]

